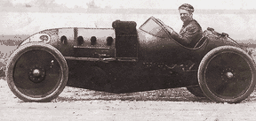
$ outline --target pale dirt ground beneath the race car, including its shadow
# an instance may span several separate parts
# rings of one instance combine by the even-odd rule
[[[255,120],[256,92],[237,104],[196,98],[186,88],[110,94],[65,87],[52,102],[22,102],[0,79],[0,120]]]

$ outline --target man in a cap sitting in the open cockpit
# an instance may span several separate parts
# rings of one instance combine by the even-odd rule
[[[168,26],[167,29],[170,32],[172,38],[180,42],[180,44],[193,48],[196,42],[203,36],[201,26],[193,19],[194,7],[190,4],[182,4],[179,7],[180,19],[183,21],[183,26],[180,30],[180,34],[177,34],[172,27]]]

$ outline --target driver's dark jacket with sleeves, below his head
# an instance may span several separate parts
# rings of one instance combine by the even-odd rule
[[[203,36],[202,27],[197,23],[195,19],[184,22],[180,34],[172,32],[172,38],[180,44],[188,47],[194,48],[196,42]]]

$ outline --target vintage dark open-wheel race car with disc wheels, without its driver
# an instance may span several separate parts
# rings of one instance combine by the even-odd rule
[[[7,62],[12,93],[25,102],[49,102],[64,87],[110,93],[187,87],[214,102],[242,102],[252,94],[252,57],[228,34],[208,27],[188,48],[159,19],[116,20],[113,28],[47,29],[20,43]]]

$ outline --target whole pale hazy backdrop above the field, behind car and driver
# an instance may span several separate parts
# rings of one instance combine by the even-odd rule
[[[151,16],[179,32],[178,7],[185,3],[194,6],[194,18],[204,30],[212,26],[235,40],[256,40],[252,0],[1,0],[0,34],[35,34],[68,26],[112,27],[116,19],[133,20],[138,27]]]

